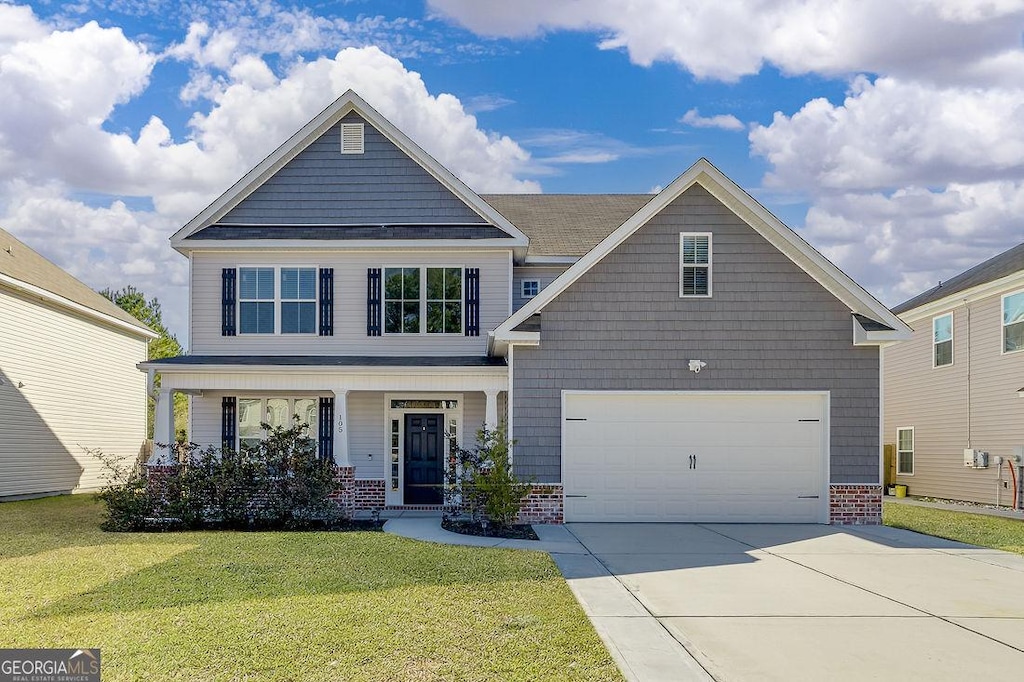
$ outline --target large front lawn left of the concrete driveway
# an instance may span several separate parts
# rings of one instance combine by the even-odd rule
[[[108,681],[622,679],[540,552],[99,520],[0,504],[0,646],[98,646]]]

